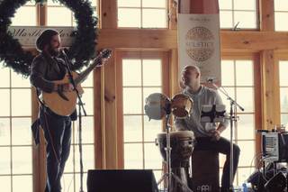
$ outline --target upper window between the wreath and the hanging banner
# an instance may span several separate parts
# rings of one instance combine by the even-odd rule
[[[166,0],[118,0],[118,27],[167,28],[167,23]]]

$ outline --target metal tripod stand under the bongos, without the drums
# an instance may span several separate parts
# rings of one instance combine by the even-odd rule
[[[159,185],[162,181],[166,180],[166,192],[175,192],[172,191],[172,179],[175,179],[175,183],[179,183],[181,186],[186,188],[187,192],[193,192],[184,182],[178,178],[171,169],[171,145],[170,145],[170,114],[166,114],[166,174],[160,178],[160,180],[157,182],[157,185]]]

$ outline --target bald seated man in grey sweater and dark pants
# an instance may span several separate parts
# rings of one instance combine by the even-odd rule
[[[183,94],[193,99],[193,110],[190,116],[175,118],[175,128],[179,131],[193,131],[196,137],[194,150],[217,151],[226,155],[226,161],[221,178],[221,191],[229,191],[229,152],[230,142],[220,136],[229,121],[223,123],[201,123],[202,105],[222,105],[221,98],[217,91],[203,87],[200,84],[201,72],[196,66],[186,66],[182,72]],[[239,147],[233,144],[233,178],[238,167]]]

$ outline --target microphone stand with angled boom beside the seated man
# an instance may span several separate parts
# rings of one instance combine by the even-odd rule
[[[244,111],[244,108],[241,105],[238,105],[238,103],[231,98],[228,93],[224,90],[218,87],[216,84],[212,82],[212,79],[208,80],[209,83],[211,83],[212,87],[215,87],[217,90],[219,90],[224,96],[227,96],[227,100],[230,101],[230,111],[229,111],[229,123],[230,123],[230,162],[229,162],[229,189],[233,190],[233,122],[237,122],[237,117],[235,116],[234,107],[237,106],[241,111]]]

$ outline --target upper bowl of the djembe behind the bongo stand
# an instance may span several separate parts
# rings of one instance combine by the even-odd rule
[[[166,161],[166,133],[158,133],[156,141],[162,158]],[[191,131],[170,133],[172,168],[189,167],[189,159],[193,152],[194,141],[194,134]]]

